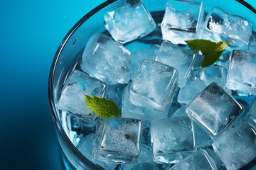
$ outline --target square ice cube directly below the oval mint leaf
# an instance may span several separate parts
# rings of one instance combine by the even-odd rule
[[[141,139],[142,123],[140,120],[100,119],[97,122],[94,157],[102,162],[133,162],[139,157]]]

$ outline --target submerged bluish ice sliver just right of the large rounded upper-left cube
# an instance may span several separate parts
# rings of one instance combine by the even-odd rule
[[[132,54],[132,62],[130,67],[131,79],[134,79],[140,64],[142,64],[143,60],[154,60],[157,52],[159,52],[159,45],[152,45],[148,49],[139,50]]]

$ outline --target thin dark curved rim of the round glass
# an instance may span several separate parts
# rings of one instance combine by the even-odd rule
[[[73,145],[73,143],[68,138],[68,135],[65,134],[65,130],[60,125],[60,120],[58,119],[57,115],[55,114],[56,110],[55,110],[55,105],[54,105],[54,101],[53,101],[53,77],[55,74],[55,67],[56,67],[58,59],[60,57],[60,54],[62,53],[63,48],[67,44],[68,40],[70,40],[70,37],[73,35],[73,33],[75,33],[75,31],[78,30],[78,28],[80,28],[80,26],[82,26],[82,23],[85,23],[85,21],[87,21],[91,16],[93,16],[95,13],[97,13],[97,11],[102,10],[102,8],[105,8],[106,6],[112,4],[116,1],[119,1],[119,0],[107,0],[107,1],[103,2],[102,4],[93,8],[90,12],[86,13],[85,16],[80,18],[80,20],[77,23],[75,23],[75,25],[68,31],[68,33],[65,35],[63,40],[60,42],[60,45],[59,45],[57,51],[55,52],[53,62],[50,66],[50,72],[49,72],[49,78],[48,78],[48,103],[49,103],[49,107],[50,107],[50,114],[53,118],[53,123],[55,125],[55,130],[58,129],[58,130],[56,130],[58,135],[62,138],[65,145],[68,145],[68,148],[71,150],[71,152],[73,154],[75,154],[76,157],[78,157],[80,160],[85,161],[83,163],[92,169],[102,169],[102,168],[100,168],[100,166],[97,166],[96,164],[93,164],[92,162],[90,162],[89,159],[87,159],[82,153],[80,153],[78,151],[78,149]],[[254,6],[248,4],[246,1],[244,1],[244,0],[235,0],[235,1],[242,4],[242,6],[245,6],[245,8],[249,9],[253,13],[256,13],[256,8]]]

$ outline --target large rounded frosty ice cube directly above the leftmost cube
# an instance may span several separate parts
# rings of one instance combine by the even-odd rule
[[[105,34],[92,35],[82,54],[81,68],[106,84],[127,84],[131,53]]]

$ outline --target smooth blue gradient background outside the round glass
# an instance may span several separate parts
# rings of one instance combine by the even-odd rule
[[[68,30],[102,2],[0,1],[0,169],[63,169],[48,106],[50,64]]]

